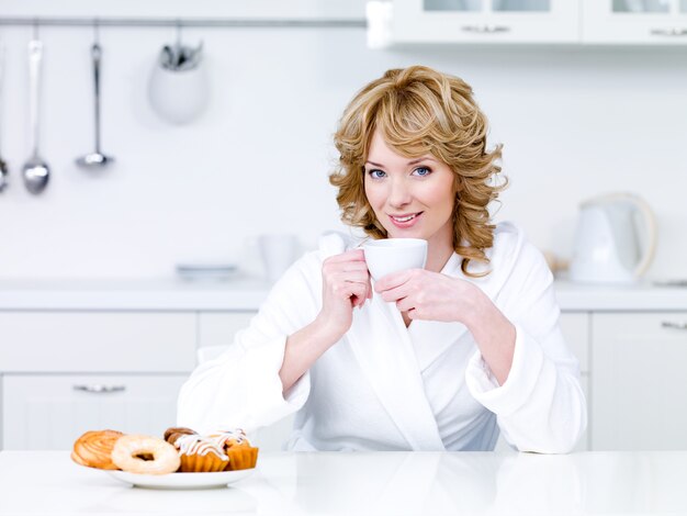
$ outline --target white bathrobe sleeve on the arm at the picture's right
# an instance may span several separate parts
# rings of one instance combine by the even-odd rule
[[[477,352],[465,380],[472,395],[497,415],[511,446],[520,451],[565,453],[585,430],[587,410],[577,359],[559,325],[553,276],[521,232],[507,231],[502,238],[493,262],[495,271],[500,267],[502,287],[493,299],[516,326],[513,366],[498,385]]]

